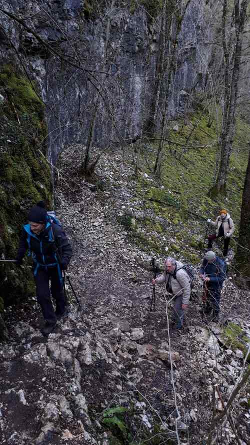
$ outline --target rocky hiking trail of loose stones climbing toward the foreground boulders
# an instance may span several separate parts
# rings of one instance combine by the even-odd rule
[[[212,385],[218,383],[226,403],[246,367],[249,293],[228,277],[222,321],[206,325],[195,279],[185,328],[169,334],[160,287],[156,311],[149,312],[153,251],[133,244],[119,221],[127,211],[134,218],[153,217],[132,199],[133,167],[122,153],[104,155],[97,188],[80,182],[79,148],[61,155],[67,177],[57,181],[55,209],[72,242],[68,275],[82,308],[77,310],[68,288],[69,315],[47,341],[35,299],[7,309],[9,340],[0,345],[0,443],[157,445],[177,443],[178,437],[182,445],[205,444]],[[218,443],[249,443],[249,399],[248,386],[234,402],[235,431],[226,421]]]

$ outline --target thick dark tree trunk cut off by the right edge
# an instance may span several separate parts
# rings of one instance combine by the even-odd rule
[[[236,283],[247,290],[250,288],[250,151],[245,173],[242,206],[236,252]]]

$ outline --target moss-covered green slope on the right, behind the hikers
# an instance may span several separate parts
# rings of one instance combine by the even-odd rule
[[[230,241],[230,247],[235,248],[249,136],[250,126],[237,119],[227,195],[216,199],[209,198],[208,192],[215,173],[218,134],[215,121],[211,124],[204,111],[197,110],[186,117],[185,122],[178,120],[170,123],[168,139],[172,142],[164,147],[160,180],[153,179],[152,174],[157,143],[142,144],[139,159],[142,174],[136,179],[134,201],[136,206],[137,202],[142,202],[143,208],[154,216],[136,220],[136,230],[130,231],[134,242],[147,252],[162,255],[166,254],[167,247],[167,254],[181,255],[191,263],[198,263],[207,218],[214,220],[219,210],[226,208],[236,225]],[[188,144],[193,148],[176,143]],[[144,176],[144,172],[150,180]],[[214,230],[210,227],[209,231],[212,233]],[[219,243],[217,247],[220,254]]]

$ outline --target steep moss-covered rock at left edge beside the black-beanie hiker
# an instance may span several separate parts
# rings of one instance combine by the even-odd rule
[[[43,199],[52,202],[46,155],[44,106],[21,73],[10,65],[0,71],[0,256],[14,258],[27,209]],[[39,150],[39,151],[38,151]],[[41,153],[42,154],[41,154]],[[31,273],[0,265],[0,312],[10,302],[33,292]]]

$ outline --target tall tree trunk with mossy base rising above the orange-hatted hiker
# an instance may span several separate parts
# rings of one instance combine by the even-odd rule
[[[226,191],[228,165],[235,135],[235,113],[238,102],[240,62],[243,32],[247,17],[247,0],[223,0],[221,18],[221,40],[224,57],[222,126],[219,137],[220,160],[215,184],[210,196]]]

